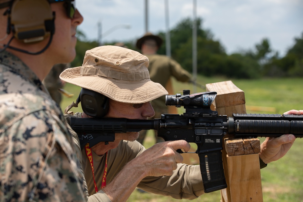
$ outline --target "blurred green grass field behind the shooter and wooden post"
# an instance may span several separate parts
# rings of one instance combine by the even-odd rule
[[[228,81],[227,78],[205,78],[198,77],[199,84],[208,84],[219,81]],[[291,109],[302,109],[302,87],[303,79],[301,78],[283,78],[283,79],[260,79],[260,80],[231,80],[238,88],[244,91],[246,106],[271,107],[272,111],[249,111],[247,113],[266,113],[266,114],[283,114]],[[191,84],[184,84],[173,80],[175,93],[184,89],[193,92]],[[73,98],[64,98],[61,104],[64,110],[66,106],[75,101],[80,92],[80,88],[71,84],[67,84],[65,89],[73,94]],[[197,92],[204,92],[205,88],[197,87]],[[179,113],[183,113],[183,108],[179,108]],[[81,111],[73,108],[72,111]],[[264,141],[264,138],[260,138]],[[144,142],[146,148],[154,144],[151,131]],[[291,150],[278,161],[271,162],[266,168],[261,169],[262,190],[264,202],[303,202],[303,139],[297,139]],[[197,199],[196,202],[219,202],[221,199],[220,192],[212,192],[204,194]],[[172,202],[180,201],[171,197],[163,197],[160,195],[140,193],[135,190],[128,202]],[[182,200],[190,201],[190,200]]]

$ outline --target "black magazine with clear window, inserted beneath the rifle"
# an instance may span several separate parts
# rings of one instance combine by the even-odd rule
[[[221,151],[201,153],[198,156],[204,192],[209,193],[226,188]]]

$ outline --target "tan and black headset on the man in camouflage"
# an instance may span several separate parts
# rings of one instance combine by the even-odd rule
[[[52,12],[48,0],[12,0],[0,4],[0,8],[9,8],[4,15],[8,15],[7,34],[13,33],[13,37],[4,45],[0,51],[10,48],[31,55],[44,52],[52,42],[55,33],[55,12]],[[50,36],[48,44],[38,52],[29,52],[10,46],[15,38],[24,43],[33,43],[44,40]]]

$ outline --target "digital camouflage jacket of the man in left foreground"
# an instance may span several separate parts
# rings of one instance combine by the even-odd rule
[[[73,145],[60,108],[35,73],[1,52],[0,201],[86,201]]]

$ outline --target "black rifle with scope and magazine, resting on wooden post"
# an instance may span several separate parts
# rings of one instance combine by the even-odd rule
[[[194,142],[198,148],[200,170],[205,193],[227,187],[223,163],[223,137],[279,137],[294,134],[303,137],[303,115],[287,114],[233,114],[218,115],[210,106],[216,92],[183,95],[166,95],[166,105],[184,106],[184,114],[162,114],[160,119],[133,120],[126,118],[70,118],[72,129],[78,134],[81,148],[89,143],[115,140],[115,133],[137,132],[153,129],[165,141],[185,140]],[[181,150],[178,150],[182,153]]]

